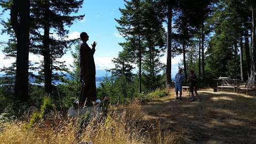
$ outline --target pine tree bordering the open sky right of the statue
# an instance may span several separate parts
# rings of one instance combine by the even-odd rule
[[[135,53],[136,64],[138,64],[138,75],[139,75],[139,93],[141,93],[141,63],[143,56],[142,47],[142,33],[143,33],[143,17],[142,17],[142,1],[141,0],[131,0],[125,2],[125,9],[119,9],[122,13],[120,19],[115,19],[119,26],[117,30],[121,33],[126,41],[132,43],[138,43],[138,45],[133,45],[133,52]]]

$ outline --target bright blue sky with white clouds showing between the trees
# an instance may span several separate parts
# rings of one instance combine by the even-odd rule
[[[124,38],[119,35],[116,26],[117,22],[115,18],[120,18],[121,13],[119,12],[119,7],[124,7],[123,0],[84,0],[83,7],[78,11],[77,14],[85,14],[85,17],[82,21],[75,21],[74,25],[67,28],[69,29],[69,38],[79,37],[79,33],[85,31],[89,35],[89,45],[93,41],[97,42],[96,52],[94,54],[94,60],[96,69],[110,69],[114,67],[111,59],[117,57],[119,51],[122,51],[122,47],[118,43],[123,42]],[[0,7],[0,10],[2,8]],[[9,18],[9,12],[1,15],[3,18]],[[2,29],[3,26],[0,26]],[[0,35],[0,41],[7,41],[8,36]],[[0,50],[3,48],[0,47]],[[10,66],[11,62],[14,60],[3,60],[4,54],[0,52],[0,68],[3,66]],[[38,61],[42,59],[37,55],[30,54],[29,60]],[[73,61],[73,58],[70,55],[70,52],[67,52],[61,58],[61,60],[66,61],[67,65],[70,65]],[[161,59],[162,62],[166,62],[166,57]],[[177,72],[178,62],[180,57],[175,57],[172,60],[172,75]]]

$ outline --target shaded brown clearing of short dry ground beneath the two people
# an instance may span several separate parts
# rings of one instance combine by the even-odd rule
[[[160,119],[163,131],[181,133],[186,143],[256,143],[256,97],[199,91],[202,102],[147,102],[147,120]]]

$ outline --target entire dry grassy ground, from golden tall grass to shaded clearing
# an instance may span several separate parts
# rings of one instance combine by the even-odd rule
[[[28,121],[0,124],[0,143],[256,143],[256,97],[199,91],[202,102],[172,101],[175,93],[112,106],[105,121],[77,122],[52,114],[31,129]]]

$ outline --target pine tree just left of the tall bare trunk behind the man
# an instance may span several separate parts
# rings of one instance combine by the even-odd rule
[[[149,90],[156,89],[161,79],[157,75],[163,70],[163,63],[159,58],[165,50],[165,30],[163,28],[164,13],[161,6],[154,1],[148,0],[143,4],[143,23],[145,40],[145,60],[142,63],[145,81]]]

